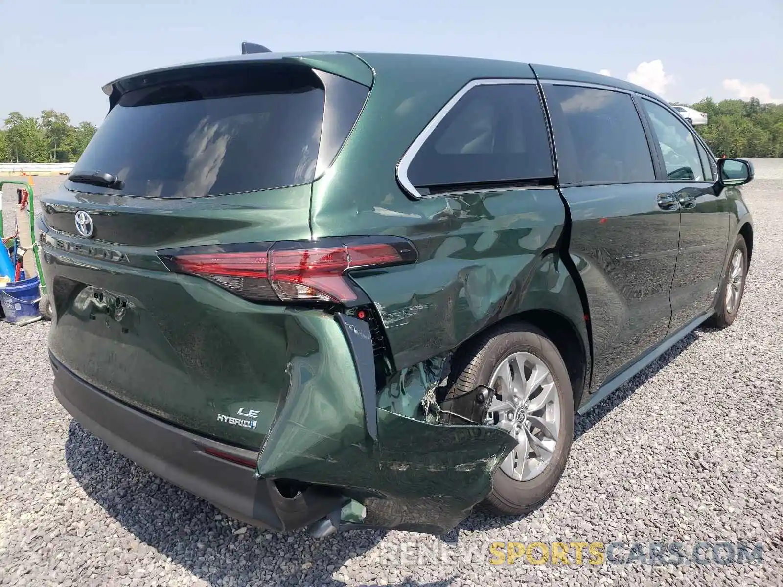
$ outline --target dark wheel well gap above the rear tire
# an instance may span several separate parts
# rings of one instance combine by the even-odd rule
[[[495,330],[500,326],[506,326],[511,322],[527,322],[532,326],[536,326],[552,341],[557,351],[560,351],[560,355],[565,362],[565,367],[568,369],[568,377],[571,380],[571,388],[574,394],[574,409],[579,409],[579,402],[582,398],[585,388],[585,376],[586,376],[586,360],[587,354],[583,348],[582,339],[579,337],[579,333],[568,319],[565,319],[557,312],[550,310],[529,310],[527,312],[520,312],[508,316],[500,322],[494,323],[492,326],[487,326],[484,330],[474,334],[470,340],[467,340],[464,344],[460,345],[464,348],[466,344],[470,344],[476,337],[485,335],[488,331]]]

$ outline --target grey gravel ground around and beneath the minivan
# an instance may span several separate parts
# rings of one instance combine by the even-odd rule
[[[745,189],[756,246],[734,326],[693,333],[580,419],[541,509],[475,513],[443,537],[316,540],[227,519],[71,420],[51,391],[48,324],[0,324],[0,584],[783,585],[783,160],[756,172]],[[760,541],[763,562],[489,564],[491,542],[536,540]]]

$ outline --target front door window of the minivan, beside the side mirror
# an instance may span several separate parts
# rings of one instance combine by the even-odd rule
[[[682,118],[649,100],[642,100],[642,103],[650,117],[655,139],[661,146],[668,178],[705,181],[696,141]]]

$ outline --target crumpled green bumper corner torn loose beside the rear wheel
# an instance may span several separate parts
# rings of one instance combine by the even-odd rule
[[[459,524],[514,439],[478,423],[435,423],[446,358],[403,369],[377,394],[366,322],[295,314],[318,350],[291,357],[258,476],[339,488],[366,507],[369,527],[441,534]]]

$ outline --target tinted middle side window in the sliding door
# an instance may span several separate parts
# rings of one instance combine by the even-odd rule
[[[655,180],[652,156],[630,95],[546,85],[562,183]]]

